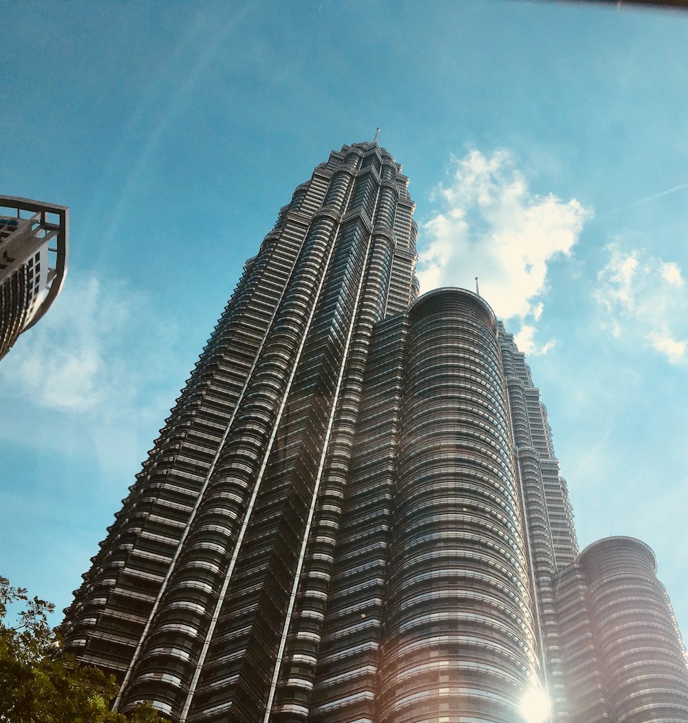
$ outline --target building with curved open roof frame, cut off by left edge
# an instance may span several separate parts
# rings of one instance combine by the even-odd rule
[[[0,196],[0,359],[57,298],[68,234],[66,206]]]

